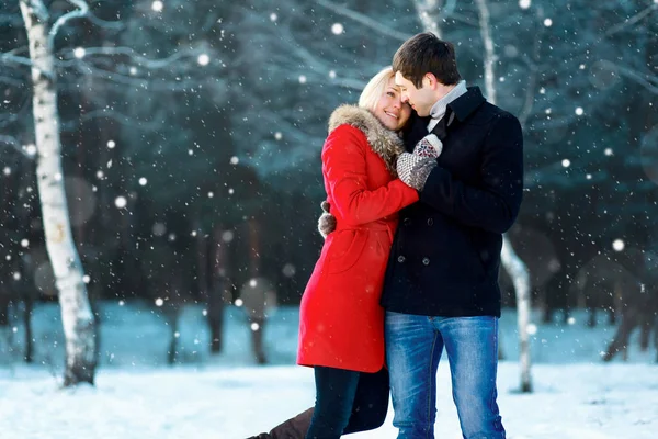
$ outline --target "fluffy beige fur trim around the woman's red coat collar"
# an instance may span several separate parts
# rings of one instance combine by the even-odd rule
[[[372,150],[377,154],[393,177],[397,177],[395,169],[397,157],[405,151],[405,143],[396,132],[388,130],[370,111],[356,105],[340,105],[329,117],[329,133],[340,125],[349,124],[361,130]]]

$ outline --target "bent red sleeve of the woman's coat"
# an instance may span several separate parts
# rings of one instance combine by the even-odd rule
[[[367,140],[350,126],[333,130],[322,148],[322,172],[340,217],[356,226],[381,219],[418,201],[418,192],[395,179],[375,190],[367,190],[365,161]]]

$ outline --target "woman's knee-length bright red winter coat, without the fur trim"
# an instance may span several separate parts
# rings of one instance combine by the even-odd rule
[[[352,125],[338,126],[325,142],[322,176],[337,229],[302,297],[298,364],[362,372],[384,367],[384,271],[397,212],[418,201],[390,169]]]

